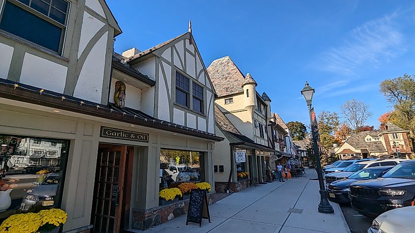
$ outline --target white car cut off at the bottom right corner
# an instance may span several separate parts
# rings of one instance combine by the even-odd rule
[[[386,211],[372,222],[367,233],[413,233],[415,207],[403,207]]]

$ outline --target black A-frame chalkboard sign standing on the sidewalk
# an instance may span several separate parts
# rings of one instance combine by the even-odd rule
[[[204,204],[204,205],[203,205]],[[187,211],[186,225],[189,222],[198,223],[202,227],[202,218],[209,219],[209,203],[207,201],[206,191],[200,189],[192,189],[189,200],[189,208]]]

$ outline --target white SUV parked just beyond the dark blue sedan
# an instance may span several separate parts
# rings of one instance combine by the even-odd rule
[[[398,159],[377,159],[377,160],[366,160],[361,162],[356,162],[348,167],[346,167],[341,172],[333,172],[325,176],[327,184],[330,184],[333,181],[338,181],[344,179],[353,173],[360,171],[363,168],[368,167],[379,167],[379,166],[395,166],[400,161]]]

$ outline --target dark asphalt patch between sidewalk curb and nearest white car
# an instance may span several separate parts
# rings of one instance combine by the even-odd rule
[[[361,215],[347,204],[340,205],[340,208],[343,211],[351,233],[367,233],[367,229],[372,225],[373,218]]]

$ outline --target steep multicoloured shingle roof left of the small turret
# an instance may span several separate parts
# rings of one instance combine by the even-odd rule
[[[207,72],[218,97],[244,92],[245,77],[229,56],[212,61]]]

